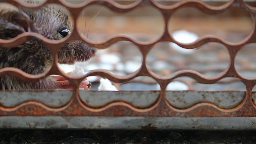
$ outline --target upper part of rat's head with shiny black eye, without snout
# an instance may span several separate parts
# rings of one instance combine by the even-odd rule
[[[59,6],[43,6],[35,10],[24,10],[31,19],[32,31],[50,40],[59,40],[71,34],[72,24],[68,11]]]

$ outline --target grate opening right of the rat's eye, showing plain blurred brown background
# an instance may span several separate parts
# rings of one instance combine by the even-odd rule
[[[78,29],[84,37],[97,42],[118,34],[126,34],[147,42],[162,34],[164,23],[160,12],[149,6],[117,13],[104,6],[92,5],[80,14]]]

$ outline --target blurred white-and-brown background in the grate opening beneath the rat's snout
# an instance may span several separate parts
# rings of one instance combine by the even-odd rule
[[[125,76],[136,72],[142,65],[142,54],[132,42],[122,41],[105,49],[97,50],[96,55],[86,62],[76,62],[74,65],[61,65],[65,72],[75,68],[83,69],[84,74],[91,70],[104,69]]]

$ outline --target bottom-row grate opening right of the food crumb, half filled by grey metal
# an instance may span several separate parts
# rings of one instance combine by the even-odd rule
[[[246,96],[246,88],[238,78],[224,78],[216,84],[200,84],[192,78],[180,77],[189,86],[188,90],[167,91],[169,104],[186,109],[199,103],[211,103],[219,108],[231,109],[239,106]],[[240,91],[241,90],[241,91]]]

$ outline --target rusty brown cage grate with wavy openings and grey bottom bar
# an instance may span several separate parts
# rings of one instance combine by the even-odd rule
[[[1,2],[8,2],[14,6],[27,6],[20,3],[18,0],[1,0]],[[110,0],[88,0],[82,4],[72,5],[64,0],[46,0],[40,4],[60,4],[70,10],[74,21],[78,19],[78,15],[84,8],[92,4],[100,4],[110,8],[115,12],[128,12],[139,6],[152,6],[158,9],[164,18],[164,32],[157,40],[150,42],[140,42],[130,36],[115,36],[103,43],[94,43],[78,32],[76,24],[71,36],[61,40],[48,40],[43,36],[35,33],[24,33],[11,40],[0,40],[0,46],[12,47],[25,42],[30,36],[36,36],[44,42],[51,50],[55,62],[51,69],[40,75],[30,75],[17,68],[2,68],[0,69],[0,76],[12,75],[28,82],[42,79],[51,74],[58,74],[67,78],[74,90],[60,90],[60,91],[2,91],[0,96],[14,96],[18,98],[20,94],[24,95],[44,95],[50,98],[54,95],[62,95],[63,93],[70,94],[70,100],[60,107],[47,106],[37,100],[26,100],[16,106],[6,107],[0,106],[0,127],[1,128],[123,128],[123,129],[255,129],[256,128],[256,106],[252,100],[252,88],[256,84],[256,78],[246,78],[241,76],[234,66],[234,59],[242,46],[256,42],[255,21],[256,8],[249,6],[243,0],[230,0],[221,6],[209,6],[200,0],[182,0],[171,6],[163,6],[154,0],[137,0],[136,2],[123,6]],[[39,6],[39,5],[38,5]],[[168,32],[168,20],[172,14],[182,7],[192,6],[204,13],[217,14],[227,8],[242,8],[250,13],[253,19],[253,30],[248,37],[241,42],[230,43],[217,38],[215,36],[203,36],[191,44],[182,44],[174,40]],[[92,70],[86,75],[74,78],[70,77],[60,71],[57,66],[56,54],[60,50],[60,46],[69,40],[84,40],[87,44],[96,48],[106,48],[118,41],[130,41],[136,45],[142,53],[142,66],[134,73],[127,76],[117,76],[107,70]],[[230,64],[224,72],[218,76],[207,78],[204,75],[194,70],[180,70],[168,78],[157,76],[148,70],[146,66],[146,56],[152,46],[158,42],[174,42],[184,48],[192,49],[202,46],[208,42],[220,43],[228,49],[230,55]],[[79,83],[88,76],[104,76],[116,83],[124,83],[136,78],[138,76],[148,76],[156,80],[160,84],[160,91],[118,91],[118,92],[100,92],[100,91],[79,91]],[[204,91],[166,91],[166,86],[176,78],[188,76],[202,84],[214,84],[226,77],[233,77],[240,79],[246,86],[246,92],[243,91],[219,91],[219,92],[204,92]],[[85,104],[81,95],[102,95],[108,93],[109,95],[157,95],[158,98],[149,106],[139,108],[122,100],[114,100],[104,106],[97,108]],[[242,102],[230,109],[223,109],[208,102],[202,102],[186,109],[178,109],[172,106],[166,95],[178,94],[184,95],[188,93],[194,94],[217,94],[234,96],[237,94],[244,95]],[[72,96],[71,96],[72,95]]]

